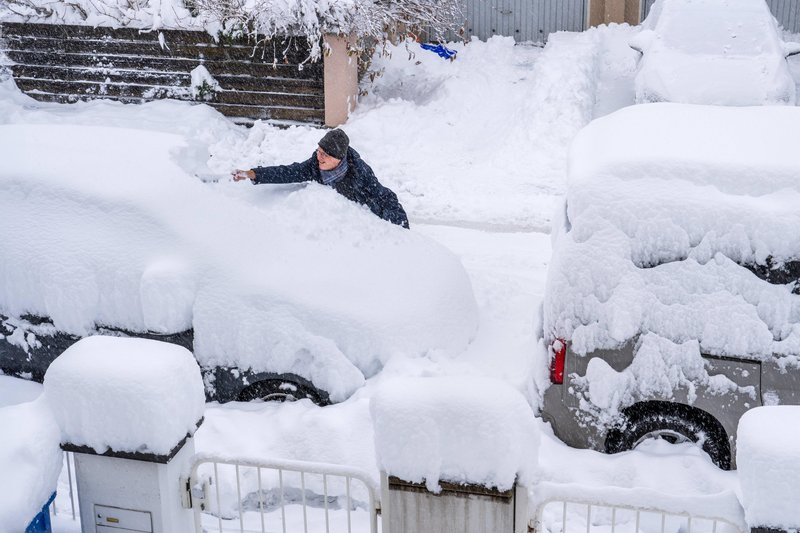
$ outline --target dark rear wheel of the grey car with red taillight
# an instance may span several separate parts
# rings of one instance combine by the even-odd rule
[[[626,422],[609,431],[606,453],[632,450],[651,438],[673,444],[693,442],[723,470],[731,468],[731,448],[722,425],[710,414],[688,405],[645,402],[625,411]]]

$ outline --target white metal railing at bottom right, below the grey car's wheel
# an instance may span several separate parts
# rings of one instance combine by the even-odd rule
[[[745,533],[721,517],[566,499],[539,504],[533,529],[537,533]]]

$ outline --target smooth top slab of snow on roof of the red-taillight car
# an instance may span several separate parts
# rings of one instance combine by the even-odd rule
[[[575,137],[569,186],[656,178],[747,196],[800,190],[798,136],[796,107],[631,106]]]

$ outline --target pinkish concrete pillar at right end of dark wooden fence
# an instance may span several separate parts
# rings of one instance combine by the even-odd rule
[[[352,37],[326,35],[329,52],[325,54],[325,125],[336,127],[347,120],[358,100],[358,56],[347,53]]]

